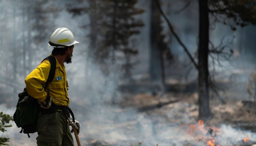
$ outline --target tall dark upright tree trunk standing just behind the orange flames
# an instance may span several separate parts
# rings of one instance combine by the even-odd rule
[[[209,104],[208,53],[209,53],[209,9],[207,0],[199,0],[199,50],[198,50],[198,93],[199,117],[211,115]]]

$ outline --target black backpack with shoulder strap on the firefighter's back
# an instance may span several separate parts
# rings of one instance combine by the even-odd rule
[[[55,69],[56,69],[56,60],[54,56],[48,56],[44,60],[49,60],[51,64],[51,69],[49,72],[48,79],[46,81],[46,85],[44,89],[49,85],[49,83],[53,80]],[[42,61],[42,62],[43,62]],[[19,99],[16,106],[16,111],[13,115],[13,120],[17,127],[21,127],[20,133],[25,133],[29,136],[29,133],[37,132],[37,116],[38,116],[38,99],[33,98],[27,93],[26,88],[24,88],[23,92],[18,94]],[[50,100],[49,96],[49,87],[47,91],[46,97],[46,105]]]

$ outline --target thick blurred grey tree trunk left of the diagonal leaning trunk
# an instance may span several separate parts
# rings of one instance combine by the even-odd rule
[[[150,80],[153,84],[162,82],[161,51],[158,46],[161,33],[161,16],[151,0],[151,32],[150,32]]]

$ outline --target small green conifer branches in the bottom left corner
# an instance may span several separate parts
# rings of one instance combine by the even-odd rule
[[[7,114],[3,114],[3,112],[0,112],[0,131],[1,132],[5,132],[7,130],[5,130],[5,128],[7,127],[12,127],[12,125],[6,125],[9,124],[10,121],[13,121],[13,117]],[[7,137],[0,137],[0,145],[9,145],[6,144],[6,142],[10,142],[9,141],[10,138]]]

